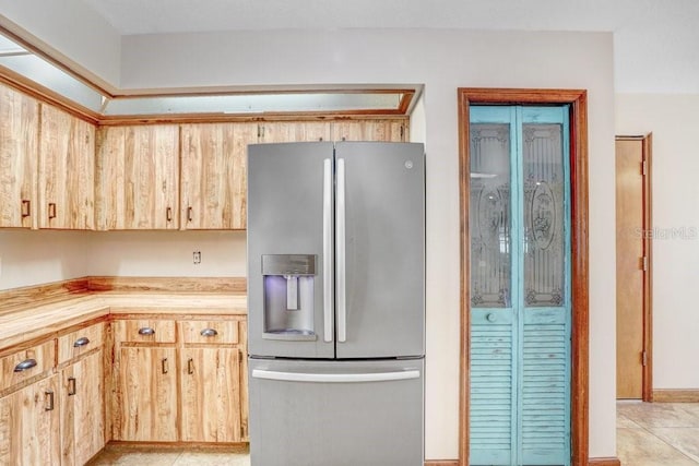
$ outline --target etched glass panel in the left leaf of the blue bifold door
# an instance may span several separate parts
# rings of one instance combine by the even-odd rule
[[[471,124],[471,304],[510,307],[510,126]]]

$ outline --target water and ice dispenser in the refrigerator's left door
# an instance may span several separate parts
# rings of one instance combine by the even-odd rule
[[[315,340],[315,254],[263,254],[266,339]]]

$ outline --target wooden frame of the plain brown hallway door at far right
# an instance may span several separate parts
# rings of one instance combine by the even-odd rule
[[[617,135],[616,141],[640,141],[643,153],[643,255],[648,258],[648,267],[643,274],[643,380],[641,397],[643,402],[653,401],[653,216],[652,216],[652,153],[653,134]]]

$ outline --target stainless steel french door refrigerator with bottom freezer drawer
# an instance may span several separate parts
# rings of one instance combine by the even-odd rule
[[[424,464],[425,164],[248,146],[252,466]]]

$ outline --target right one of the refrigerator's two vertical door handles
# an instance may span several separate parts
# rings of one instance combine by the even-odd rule
[[[335,218],[335,292],[337,294],[337,342],[347,340],[347,308],[345,295],[345,159],[337,158],[337,204]]]

